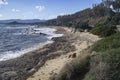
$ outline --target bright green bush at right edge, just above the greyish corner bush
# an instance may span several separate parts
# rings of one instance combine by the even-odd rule
[[[120,47],[120,32],[104,38],[93,45],[92,50],[96,52],[103,52],[106,50],[116,49]]]

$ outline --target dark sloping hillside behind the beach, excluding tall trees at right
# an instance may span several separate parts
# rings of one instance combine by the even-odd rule
[[[49,20],[47,24],[72,26],[75,23],[87,22],[89,25],[95,25],[96,23],[106,22],[109,17],[108,14],[106,14],[105,11],[103,13],[101,13],[101,11],[95,12],[95,8],[87,8],[71,15],[58,16],[57,19]],[[111,15],[112,14],[114,13],[111,11]]]

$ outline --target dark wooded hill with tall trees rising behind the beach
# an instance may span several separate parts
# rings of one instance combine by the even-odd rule
[[[88,24],[88,30],[96,24],[117,25],[120,24],[119,5],[119,0],[102,0],[100,4],[93,4],[92,8],[87,8],[74,14],[58,16],[56,19],[48,20],[45,24],[72,27],[80,31],[86,30],[86,28],[83,28],[84,26],[81,26],[84,23]]]

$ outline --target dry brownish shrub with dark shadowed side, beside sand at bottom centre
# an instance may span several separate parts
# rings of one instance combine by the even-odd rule
[[[65,67],[57,76],[53,76],[51,80],[82,80],[84,75],[89,71],[89,57],[78,58]]]

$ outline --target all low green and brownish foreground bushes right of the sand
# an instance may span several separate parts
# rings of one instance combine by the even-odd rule
[[[89,54],[85,51],[52,80],[120,80],[120,32],[98,41]]]

